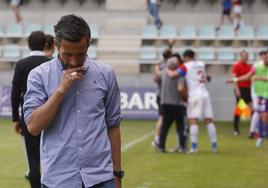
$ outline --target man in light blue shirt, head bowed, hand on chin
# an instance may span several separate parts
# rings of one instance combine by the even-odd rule
[[[115,74],[87,57],[81,17],[55,25],[59,55],[28,77],[24,117],[41,134],[43,188],[121,188],[120,91]]]

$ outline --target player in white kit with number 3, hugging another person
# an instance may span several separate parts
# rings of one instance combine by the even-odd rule
[[[185,77],[188,89],[187,117],[190,124],[190,153],[196,153],[198,150],[198,119],[204,118],[207,125],[208,134],[211,140],[212,152],[217,151],[217,133],[216,127],[212,122],[213,111],[210,96],[206,88],[207,76],[205,64],[202,61],[195,60],[195,53],[192,50],[186,50],[183,53],[184,64],[176,70],[167,70],[170,77]]]

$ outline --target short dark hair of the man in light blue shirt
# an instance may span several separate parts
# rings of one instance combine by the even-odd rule
[[[87,22],[74,14],[62,16],[58,23],[54,26],[56,41],[61,39],[70,42],[79,42],[84,36],[91,38],[90,28]]]

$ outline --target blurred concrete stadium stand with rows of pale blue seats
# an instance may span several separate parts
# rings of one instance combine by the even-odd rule
[[[146,3],[142,0],[135,2],[25,0],[22,11],[27,22],[23,26],[10,21],[12,13],[6,10],[9,8],[8,1],[0,4],[0,14],[3,18],[0,23],[1,49],[10,43],[19,45],[21,48],[18,50],[20,54],[18,58],[27,54],[23,48],[26,44],[25,39],[31,31],[42,29],[46,33],[53,34],[54,23],[60,15],[70,11],[79,12],[90,23],[91,43],[93,44],[89,52],[90,57],[107,63],[125,59],[137,62],[137,66],[140,66],[147,57],[146,63],[154,64],[154,60],[161,57],[161,51],[165,48],[167,40],[174,39],[174,50],[179,53],[186,47],[191,47],[197,51],[200,59],[208,61],[209,64],[213,64],[213,61],[214,63],[229,61],[227,64],[231,64],[236,59],[237,53],[233,52],[233,55],[228,50],[227,53],[226,48],[236,51],[246,48],[249,50],[250,59],[254,60],[258,49],[264,47],[263,45],[266,45],[268,40],[265,2],[245,3],[243,18],[245,18],[246,25],[238,32],[235,32],[231,25],[224,25],[218,32],[215,31],[220,3],[211,0],[164,1],[161,7],[161,17],[165,24],[159,31],[154,25],[146,24]],[[59,7],[62,11],[60,13]],[[49,14],[44,13],[47,10]],[[89,13],[88,10],[90,10]],[[251,12],[255,10],[258,10],[260,14],[252,15]],[[126,42],[125,38],[132,39]],[[118,42],[121,40],[125,41],[124,44]],[[134,40],[137,41],[133,42]],[[109,41],[108,44],[107,41]],[[230,41],[230,43],[225,41]],[[146,50],[148,45],[153,47],[153,50]],[[227,56],[223,57],[226,53]],[[107,54],[113,54],[113,57]],[[1,60],[5,61],[3,55],[4,53],[1,53]]]

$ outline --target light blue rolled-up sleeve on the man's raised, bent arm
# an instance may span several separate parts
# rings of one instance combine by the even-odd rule
[[[28,124],[33,110],[44,104],[47,99],[48,96],[44,89],[42,76],[38,69],[34,69],[29,74],[27,91],[24,95],[23,112],[26,124]]]

